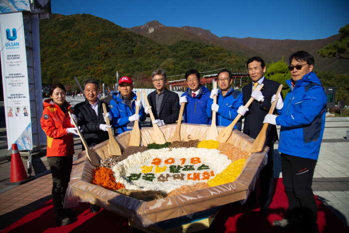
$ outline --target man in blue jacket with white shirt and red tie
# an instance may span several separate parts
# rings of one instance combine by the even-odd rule
[[[184,123],[208,125],[210,119],[206,114],[206,108],[211,92],[200,84],[200,73],[196,69],[186,71],[185,80],[188,88],[179,98],[180,104],[186,103],[183,113]]]

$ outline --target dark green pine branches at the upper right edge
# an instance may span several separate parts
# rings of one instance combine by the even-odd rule
[[[321,57],[349,60],[349,24],[341,27],[339,32],[339,40],[336,40],[333,44],[328,44],[317,51]]]

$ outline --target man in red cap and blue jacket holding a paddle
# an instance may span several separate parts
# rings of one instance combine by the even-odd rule
[[[113,126],[119,128],[117,134],[121,134],[132,130],[134,121],[145,121],[146,114],[141,100],[137,101],[137,96],[132,91],[133,82],[130,77],[120,78],[118,89],[119,92],[114,93],[110,101],[110,115]],[[139,114],[136,114],[136,105],[140,106]]]

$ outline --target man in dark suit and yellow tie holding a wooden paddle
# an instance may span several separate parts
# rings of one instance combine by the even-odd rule
[[[249,109],[245,108],[243,105],[240,106],[238,113],[245,115],[243,133],[255,139],[261,131],[264,117],[268,114],[271,107],[271,97],[276,94],[280,83],[268,80],[264,77],[263,73],[266,71],[266,66],[261,57],[250,58],[246,62],[246,65],[253,82],[242,88],[242,101],[245,105],[251,96],[254,98],[254,101]],[[263,89],[257,91],[257,88],[262,83],[264,84]],[[276,126],[269,124],[266,135],[265,145],[270,149],[268,152],[268,162],[259,174],[261,196],[258,199],[261,205],[261,215],[268,214],[269,205],[273,198],[274,143],[279,140]],[[250,194],[248,202],[255,203],[255,201],[256,191],[254,190]]]

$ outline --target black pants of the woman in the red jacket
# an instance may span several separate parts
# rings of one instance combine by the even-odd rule
[[[52,201],[55,208],[63,208],[65,192],[68,188],[73,156],[47,157],[52,174]]]

